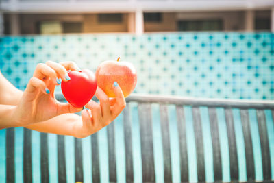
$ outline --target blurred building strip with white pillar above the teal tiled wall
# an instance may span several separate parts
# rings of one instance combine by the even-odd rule
[[[272,31],[274,0],[0,0],[0,34]]]

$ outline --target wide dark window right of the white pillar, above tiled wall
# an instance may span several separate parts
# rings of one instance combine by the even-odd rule
[[[178,21],[178,31],[222,31],[222,20]]]

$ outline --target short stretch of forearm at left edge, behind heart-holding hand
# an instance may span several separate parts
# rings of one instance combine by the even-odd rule
[[[0,105],[0,129],[20,126],[14,118],[15,108],[16,106]]]

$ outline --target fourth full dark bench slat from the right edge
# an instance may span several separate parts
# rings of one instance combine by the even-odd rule
[[[222,161],[221,161],[221,147],[219,139],[219,128],[216,108],[208,108],[208,114],[210,116],[210,131],[212,138],[213,149],[213,167],[214,167],[214,181],[222,181]]]

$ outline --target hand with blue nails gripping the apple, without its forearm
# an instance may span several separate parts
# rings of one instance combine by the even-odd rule
[[[75,123],[74,136],[77,138],[84,138],[90,134],[101,130],[101,128],[110,124],[125,108],[125,97],[123,91],[119,86],[112,86],[115,98],[109,99],[103,90],[97,87],[95,96],[99,99],[100,104],[90,100],[86,104],[86,108],[90,110],[82,111],[82,123],[78,121]]]

